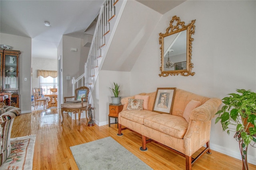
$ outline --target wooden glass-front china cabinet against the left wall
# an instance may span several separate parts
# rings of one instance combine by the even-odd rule
[[[1,50],[2,51],[2,50]],[[19,57],[21,52],[4,49],[1,53],[2,92],[12,93],[10,105],[19,107]]]

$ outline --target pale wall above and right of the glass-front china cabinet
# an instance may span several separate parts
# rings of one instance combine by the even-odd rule
[[[0,44],[10,45],[21,52],[19,58],[20,109],[31,113],[31,38],[0,33]],[[27,81],[24,81],[27,78]]]

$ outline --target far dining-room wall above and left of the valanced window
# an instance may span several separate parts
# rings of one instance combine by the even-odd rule
[[[32,88],[40,88],[40,78],[37,73],[38,70],[52,70],[57,71],[57,59],[45,59],[39,57],[32,57],[31,60],[32,68]]]

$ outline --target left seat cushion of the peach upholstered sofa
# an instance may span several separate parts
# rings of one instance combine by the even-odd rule
[[[156,113],[149,110],[123,110],[119,113],[120,117],[124,117],[128,120],[134,121],[136,123],[140,123],[143,125],[144,118],[152,115],[160,115],[160,113]]]

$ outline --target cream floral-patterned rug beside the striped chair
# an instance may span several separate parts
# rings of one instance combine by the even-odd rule
[[[11,154],[1,170],[32,170],[36,135],[12,138]]]

